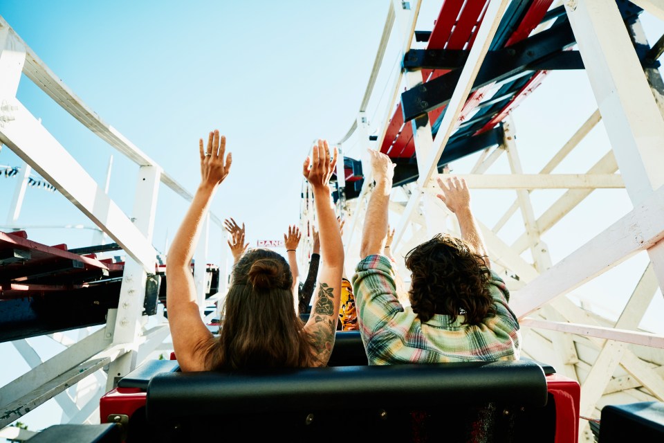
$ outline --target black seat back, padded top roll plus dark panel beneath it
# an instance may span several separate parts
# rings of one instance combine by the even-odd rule
[[[145,412],[164,442],[205,438],[210,425],[232,441],[338,442],[343,433],[407,442],[443,432],[454,442],[485,432],[525,442],[538,423],[528,413],[546,409],[547,394],[533,361],[174,372],[150,381]],[[525,437],[513,438],[524,423]]]

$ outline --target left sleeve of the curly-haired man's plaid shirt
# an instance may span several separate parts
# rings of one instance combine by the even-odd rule
[[[369,255],[358,263],[353,292],[363,336],[374,336],[396,314],[403,312],[396,297],[394,269],[385,255]]]

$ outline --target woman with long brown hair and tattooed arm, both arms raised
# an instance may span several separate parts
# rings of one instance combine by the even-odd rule
[[[232,156],[225,156],[225,137],[210,132],[201,157],[201,185],[169,250],[168,320],[175,354],[183,371],[242,370],[266,367],[324,366],[334,345],[344,250],[330,202],[329,179],[337,151],[319,140],[304,161],[303,174],[313,189],[323,266],[308,322],[293,305],[293,275],[284,257],[266,249],[248,251],[234,266],[219,337],[205,327],[190,263],[219,184],[228,176]]]

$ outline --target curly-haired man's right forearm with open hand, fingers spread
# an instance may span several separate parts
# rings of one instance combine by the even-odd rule
[[[445,206],[451,210],[459,220],[459,229],[461,238],[472,244],[475,251],[484,257],[487,267],[490,267],[489,257],[486,253],[486,246],[482,237],[481,230],[477,225],[475,217],[470,211],[470,190],[464,179],[459,177],[450,177],[443,181],[438,179],[438,186],[441,188],[441,194],[438,198],[445,203]]]

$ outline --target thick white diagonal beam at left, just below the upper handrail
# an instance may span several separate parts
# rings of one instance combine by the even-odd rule
[[[156,251],[84,168],[19,102],[15,120],[0,127],[6,144],[72,204],[109,234],[124,251],[154,272]]]

